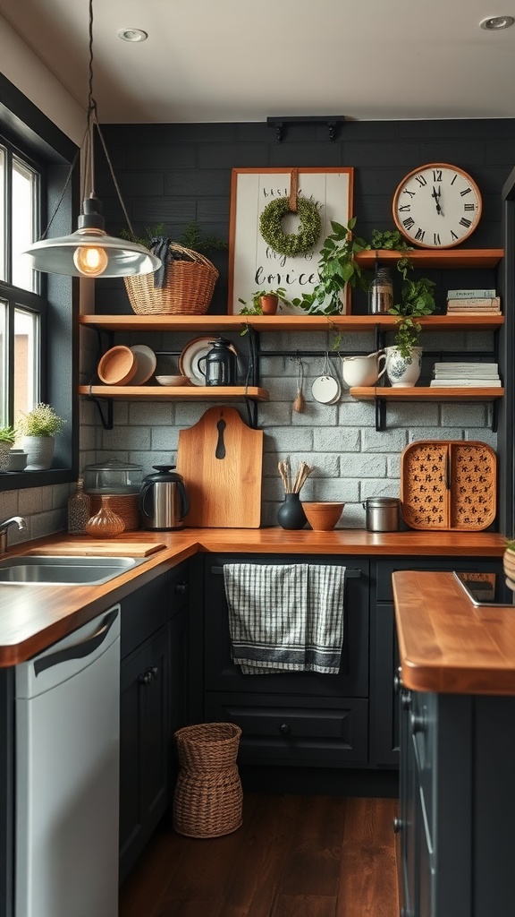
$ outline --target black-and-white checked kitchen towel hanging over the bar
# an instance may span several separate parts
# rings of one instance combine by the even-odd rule
[[[244,674],[337,674],[345,567],[224,564],[233,661]]]

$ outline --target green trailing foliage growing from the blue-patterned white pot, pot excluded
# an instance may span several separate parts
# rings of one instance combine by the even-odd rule
[[[419,318],[432,315],[434,312],[434,282],[427,277],[412,280],[408,272],[413,269],[410,258],[400,258],[397,269],[402,277],[400,288],[400,303],[392,305],[389,309],[391,315],[397,315],[397,331],[395,343],[399,348],[400,356],[409,358],[411,349],[418,346],[422,331]]]

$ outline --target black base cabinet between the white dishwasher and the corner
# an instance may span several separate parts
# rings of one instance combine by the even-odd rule
[[[120,881],[170,806],[172,734],[183,724],[188,568],[122,602]]]

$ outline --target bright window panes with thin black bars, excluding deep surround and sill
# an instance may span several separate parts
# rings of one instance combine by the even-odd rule
[[[38,238],[44,171],[0,138],[0,425],[16,424],[42,399],[41,359],[47,302],[21,252]]]

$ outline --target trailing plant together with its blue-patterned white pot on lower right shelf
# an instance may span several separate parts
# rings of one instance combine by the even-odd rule
[[[418,381],[422,370],[422,348],[419,340],[422,331],[419,318],[434,312],[433,281],[427,277],[412,280],[408,271],[413,262],[408,257],[400,258],[397,269],[402,275],[400,303],[389,309],[397,315],[395,345],[385,348],[386,369],[390,384],[394,387],[411,387]]]

